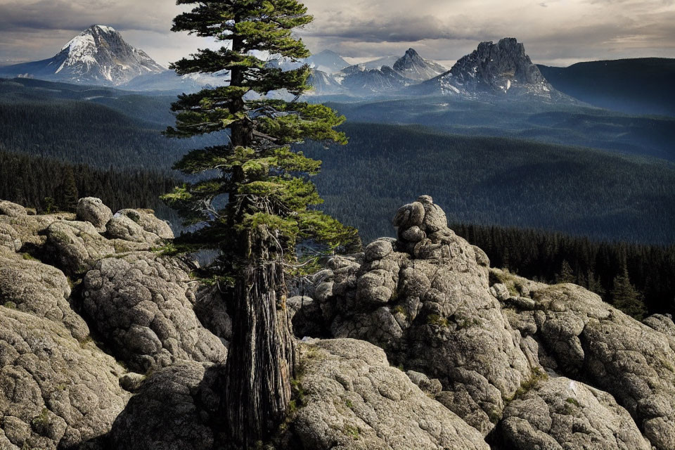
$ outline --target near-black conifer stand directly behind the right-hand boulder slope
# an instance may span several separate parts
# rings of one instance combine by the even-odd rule
[[[675,245],[597,242],[470,224],[450,228],[484,250],[492,266],[546,283],[584,286],[638,319],[645,313],[675,313]]]

